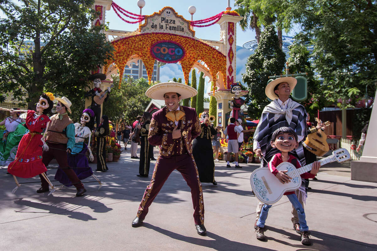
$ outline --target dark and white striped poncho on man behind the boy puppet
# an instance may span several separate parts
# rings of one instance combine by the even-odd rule
[[[279,100],[280,101],[280,100]],[[280,101],[281,103],[281,101]],[[261,148],[262,154],[267,161],[270,161],[272,156],[280,153],[277,148],[271,147],[272,133],[280,127],[286,126],[292,128],[299,138],[299,147],[290,153],[300,160],[301,165],[305,165],[305,156],[302,148],[302,139],[307,136],[305,108],[291,100],[290,98],[285,102],[283,109],[282,105],[277,100],[268,104],[262,112],[261,119],[259,119],[258,126],[254,133],[254,151]],[[287,111],[288,110],[288,111]],[[290,122],[288,123],[288,121]],[[262,166],[267,166],[267,163],[262,160]]]

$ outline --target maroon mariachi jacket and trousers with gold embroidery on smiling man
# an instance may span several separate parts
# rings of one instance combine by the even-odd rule
[[[195,109],[179,106],[185,113],[178,121],[181,138],[173,139],[175,122],[166,118],[169,109],[164,107],[153,113],[149,125],[148,141],[151,145],[159,145],[160,151],[153,170],[152,180],[144,192],[139,205],[137,216],[144,219],[148,208],[158,192],[161,190],[169,175],[177,169],[191,188],[192,204],[194,207],[195,224],[204,224],[204,203],[202,184],[199,181],[198,169],[192,156],[192,140],[201,132],[201,126]]]

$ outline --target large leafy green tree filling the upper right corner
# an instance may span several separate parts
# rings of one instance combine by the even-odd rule
[[[377,3],[311,0],[288,11],[302,25],[297,39],[313,45],[313,70],[322,80],[316,95],[341,108],[354,107],[365,94],[374,97]]]

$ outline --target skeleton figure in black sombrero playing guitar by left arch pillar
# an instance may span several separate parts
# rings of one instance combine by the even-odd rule
[[[104,101],[107,101],[110,95],[110,89],[114,86],[107,87],[105,91],[102,91],[101,81],[106,79],[106,75],[102,73],[95,73],[90,75],[89,80],[93,81],[94,88],[90,89],[84,96],[92,97],[92,103],[90,104],[90,109],[93,110],[95,114],[95,123],[97,127],[100,125],[100,116],[101,116],[101,104]],[[88,107],[89,108],[89,107]]]

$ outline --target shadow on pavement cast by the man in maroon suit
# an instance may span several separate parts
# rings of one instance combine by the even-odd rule
[[[236,242],[233,240],[229,240],[217,234],[211,233],[207,231],[207,237],[210,237],[211,240],[204,239],[206,237],[195,238],[190,236],[184,236],[182,234],[177,234],[169,230],[162,229],[160,227],[156,227],[149,223],[144,222],[143,226],[152,230],[155,230],[161,234],[165,234],[170,238],[181,240],[184,242],[192,243],[199,246],[205,246],[208,248],[213,248],[218,251],[229,251],[229,250],[258,250],[258,251],[273,251],[274,249],[270,248],[262,248],[261,246],[254,246],[246,243]],[[178,227],[178,226],[177,226]],[[196,231],[194,225],[192,225],[192,231]],[[200,250],[200,248],[198,249]]]

